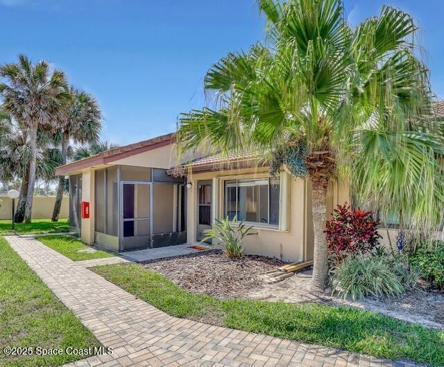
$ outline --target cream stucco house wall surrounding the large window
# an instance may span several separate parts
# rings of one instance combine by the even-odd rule
[[[214,215],[223,217],[223,180],[241,178],[268,177],[267,169],[243,169],[231,171],[215,171],[191,174],[187,181],[191,188],[187,191],[187,242],[196,243],[197,223],[197,182],[213,180],[213,211]],[[217,180],[214,180],[214,179]],[[286,217],[287,230],[255,227],[253,233],[244,239],[246,253],[279,258],[284,261],[303,261],[313,258],[313,224],[311,218],[311,186],[309,180],[289,177]],[[214,185],[219,188],[214,190]],[[282,188],[282,183],[281,183]],[[332,212],[333,206],[349,201],[348,186],[332,183],[327,197],[327,208]],[[216,199],[216,203],[214,199]],[[216,206],[216,208],[214,208]]]

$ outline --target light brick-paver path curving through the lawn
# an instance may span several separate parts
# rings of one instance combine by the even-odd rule
[[[169,316],[33,238],[6,237],[112,355],[71,366],[413,366]]]

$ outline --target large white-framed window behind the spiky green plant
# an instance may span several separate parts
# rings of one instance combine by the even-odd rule
[[[279,224],[278,178],[225,181],[225,216],[259,224]]]

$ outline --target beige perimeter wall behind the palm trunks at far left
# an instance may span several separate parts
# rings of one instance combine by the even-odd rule
[[[10,220],[12,214],[12,199],[5,196],[0,196],[0,220]],[[15,207],[17,208],[18,199],[15,200]],[[33,212],[32,219],[47,219],[53,215],[54,203],[56,197],[54,196],[35,196],[33,198]],[[62,199],[62,206],[60,208],[60,218],[69,217],[69,197],[64,196]]]

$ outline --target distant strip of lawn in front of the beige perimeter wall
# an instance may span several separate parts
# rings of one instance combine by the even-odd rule
[[[40,234],[40,233],[59,233],[69,231],[69,222],[67,219],[60,219],[58,222],[48,220],[33,220],[32,223],[16,223],[15,230],[19,235]],[[11,221],[0,220],[0,235],[12,235]]]

